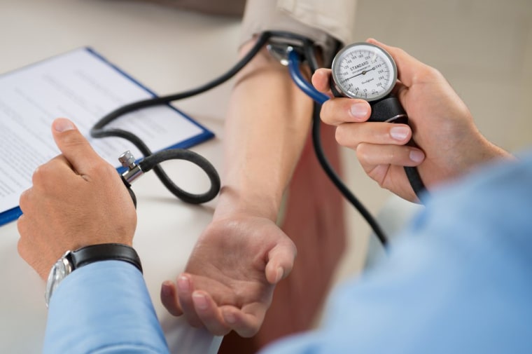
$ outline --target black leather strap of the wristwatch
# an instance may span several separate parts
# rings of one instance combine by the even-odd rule
[[[102,243],[81,247],[70,254],[73,270],[95,261],[127,261],[136,266],[142,273],[141,259],[137,251],[121,243]]]

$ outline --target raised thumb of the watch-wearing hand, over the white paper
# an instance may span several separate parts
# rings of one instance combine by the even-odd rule
[[[101,160],[87,139],[69,119],[55,119],[52,123],[52,135],[61,154],[80,175],[85,174],[87,168]]]

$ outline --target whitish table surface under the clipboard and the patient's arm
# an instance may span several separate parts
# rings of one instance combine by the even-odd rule
[[[239,20],[166,8],[149,1],[2,0],[0,73],[80,46],[92,46],[155,93],[193,88],[228,69],[237,58]],[[176,107],[209,128],[216,138],[193,150],[221,168],[223,116],[231,83]],[[206,103],[208,102],[208,103]],[[167,163],[176,183],[203,191],[207,178],[191,164]],[[155,175],[134,183],[138,226],[134,247],[172,353],[216,353],[221,338],[189,327],[160,304],[160,284],[186,265],[197,237],[210,221],[216,200],[186,205]],[[18,231],[0,227],[0,353],[41,353],[46,309],[44,284],[18,256]]]

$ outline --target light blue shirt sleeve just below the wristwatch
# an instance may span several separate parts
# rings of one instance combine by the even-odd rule
[[[43,353],[169,353],[141,272],[125,261],[73,271],[50,300]]]

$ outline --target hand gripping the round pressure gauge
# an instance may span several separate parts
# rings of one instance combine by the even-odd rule
[[[395,93],[409,125],[367,122],[370,105],[350,98],[325,102],[321,119],[337,126],[337,142],[356,150],[360,165],[381,187],[414,201],[403,166],[418,166],[430,189],[491,158],[510,156],[480,134],[468,107],[440,72],[400,48],[374,39],[368,42],[387,50],[397,64]],[[330,69],[320,69],[312,77],[316,89],[330,95],[329,82]],[[412,137],[419,148],[406,145]]]

